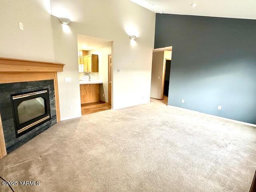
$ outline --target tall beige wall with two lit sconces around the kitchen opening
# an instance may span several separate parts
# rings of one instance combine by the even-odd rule
[[[129,0],[51,0],[51,6],[53,15],[61,16],[65,12],[72,20],[66,26],[69,30],[63,30],[58,18],[52,16],[55,60],[65,64],[64,72],[58,73],[62,120],[81,114],[77,34],[113,41],[112,108],[150,102],[153,12]],[[134,42],[127,34],[130,31],[138,36]],[[121,73],[117,73],[118,69]],[[71,77],[72,82],[65,83],[64,77]]]

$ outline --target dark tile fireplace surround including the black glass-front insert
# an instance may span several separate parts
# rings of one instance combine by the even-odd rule
[[[54,125],[54,80],[0,84],[0,114],[7,153]]]

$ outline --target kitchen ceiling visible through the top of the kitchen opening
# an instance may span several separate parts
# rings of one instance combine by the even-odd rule
[[[91,36],[77,35],[77,48],[79,50],[94,50],[100,47],[110,46],[112,41]]]

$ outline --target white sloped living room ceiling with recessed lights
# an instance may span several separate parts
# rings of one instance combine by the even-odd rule
[[[131,0],[155,13],[256,19],[256,0]],[[154,6],[150,5],[154,4]],[[197,4],[192,7],[191,4]]]

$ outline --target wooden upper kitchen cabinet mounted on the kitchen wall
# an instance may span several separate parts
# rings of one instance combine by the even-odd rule
[[[84,72],[99,72],[98,55],[83,56]]]

